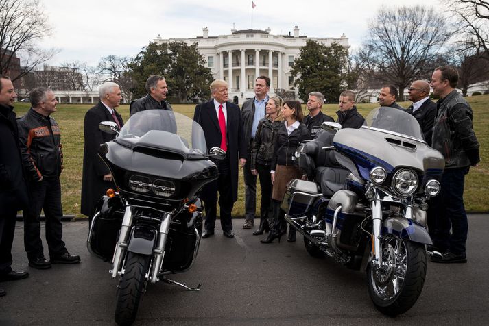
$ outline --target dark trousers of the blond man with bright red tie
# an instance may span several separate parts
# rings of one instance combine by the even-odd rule
[[[229,158],[217,161],[219,179],[207,184],[202,189],[202,202],[206,211],[204,227],[207,231],[213,231],[217,217],[217,192],[219,192],[219,209],[221,227],[223,231],[232,230],[231,212],[234,206],[232,200],[231,166]]]

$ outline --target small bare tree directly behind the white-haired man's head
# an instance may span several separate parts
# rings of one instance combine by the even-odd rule
[[[100,82],[115,82],[121,87],[121,93],[125,101],[132,97],[130,89],[134,86],[132,78],[129,76],[129,67],[131,59],[128,57],[119,57],[117,55],[108,55],[99,61],[96,73]]]

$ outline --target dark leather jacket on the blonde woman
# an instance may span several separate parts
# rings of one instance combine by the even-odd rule
[[[257,163],[270,166],[274,157],[274,146],[278,136],[278,129],[282,125],[283,120],[271,121],[269,118],[260,120],[251,151],[250,167],[252,170],[257,169]]]

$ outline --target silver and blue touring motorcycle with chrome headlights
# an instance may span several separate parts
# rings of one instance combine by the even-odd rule
[[[427,202],[440,192],[444,158],[403,110],[376,108],[360,129],[323,129],[295,154],[308,181],[287,186],[285,220],[310,255],[366,271],[380,312],[402,314],[425,283]]]

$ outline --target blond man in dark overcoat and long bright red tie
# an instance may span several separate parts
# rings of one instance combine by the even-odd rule
[[[204,186],[202,201],[206,211],[205,229],[202,238],[214,234],[217,216],[217,192],[219,192],[219,208],[221,227],[224,236],[232,238],[231,212],[238,199],[238,161],[244,166],[247,158],[244,140],[243,118],[239,106],[228,101],[228,83],[217,79],[211,84],[213,99],[195,107],[193,120],[204,130],[207,150],[221,147],[226,151],[224,160],[216,161],[219,179]]]

